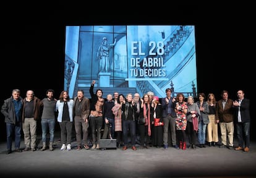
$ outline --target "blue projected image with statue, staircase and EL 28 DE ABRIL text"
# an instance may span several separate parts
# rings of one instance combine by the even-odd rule
[[[114,91],[126,95],[153,91],[164,98],[195,96],[197,65],[194,25],[67,26],[64,90],[74,97],[93,80],[103,97]]]

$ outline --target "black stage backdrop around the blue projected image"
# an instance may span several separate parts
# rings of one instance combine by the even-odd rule
[[[252,19],[249,9],[241,15],[236,8],[228,11],[228,6],[223,5],[186,8],[180,4],[156,6],[153,10],[137,6],[128,10],[106,6],[74,9],[64,5],[8,11],[10,17],[1,25],[1,104],[14,88],[21,90],[22,97],[32,89],[38,98],[44,98],[46,90],[53,88],[58,98],[64,83],[66,25],[192,24],[196,35],[198,92],[214,93],[219,100],[222,90],[228,90],[232,99],[236,98],[237,90],[245,90],[245,97],[251,100],[251,137],[255,139],[255,45],[251,45],[255,41],[253,25],[248,23]],[[239,8],[243,6],[239,4]],[[1,140],[6,140],[4,117],[0,117]]]

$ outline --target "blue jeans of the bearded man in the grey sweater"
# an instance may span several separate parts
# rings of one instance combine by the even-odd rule
[[[42,127],[42,142],[46,142],[47,130],[49,127],[49,142],[54,141],[54,128],[55,128],[55,119],[41,119]]]

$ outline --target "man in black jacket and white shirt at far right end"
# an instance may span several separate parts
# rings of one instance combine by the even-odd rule
[[[250,100],[244,98],[244,91],[237,91],[237,98],[233,102],[234,122],[236,123],[236,132],[238,146],[235,150],[249,151],[250,146]],[[243,147],[244,146],[244,147]]]

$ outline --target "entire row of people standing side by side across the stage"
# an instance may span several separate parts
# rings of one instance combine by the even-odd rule
[[[237,91],[237,100],[228,98],[228,91],[221,93],[221,100],[215,95],[198,93],[194,97],[178,93],[172,97],[171,88],[166,88],[166,97],[158,98],[148,91],[140,97],[139,93],[126,96],[115,91],[103,98],[103,91],[94,90],[95,81],[90,87],[91,99],[77,91],[74,99],[67,91],[62,91],[59,100],[54,98],[54,90],[46,91],[46,98],[40,100],[33,90],[26,97],[20,90],[12,91],[11,98],[2,104],[7,132],[7,154],[12,153],[12,139],[15,138],[14,151],[36,150],[37,123],[41,120],[41,151],[53,151],[56,118],[61,129],[60,150],[72,150],[72,129],[75,128],[76,149],[99,149],[101,138],[116,138],[117,148],[137,150],[150,146],[168,149],[203,148],[220,146],[234,150],[249,151],[250,146],[250,100],[244,98],[244,91]],[[74,126],[73,126],[74,125]],[[233,145],[234,127],[239,144]],[[220,130],[218,130],[220,128]],[[25,149],[20,150],[21,130],[23,130]],[[49,130],[49,145],[46,135]],[[102,134],[102,130],[103,134]],[[221,142],[219,143],[219,131]],[[88,140],[88,135],[92,136]],[[187,143],[188,140],[188,143]],[[92,145],[90,144],[92,142]]]

